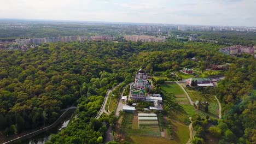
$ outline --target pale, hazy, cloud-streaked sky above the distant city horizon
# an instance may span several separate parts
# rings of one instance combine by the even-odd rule
[[[0,18],[255,26],[256,0],[0,0]]]

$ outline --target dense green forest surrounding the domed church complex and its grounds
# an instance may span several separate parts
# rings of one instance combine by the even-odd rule
[[[225,79],[213,89],[223,106],[223,118],[214,134],[195,116],[201,133],[217,136],[220,143],[255,142],[256,61],[216,51],[212,43],[133,43],[86,41],[42,44],[28,51],[0,51],[0,136],[53,123],[61,110],[77,105],[77,118],[47,143],[102,143],[107,127],[117,118],[95,119],[107,89],[130,82],[143,67],[148,73],[169,73],[182,68],[230,63]],[[196,57],[194,62],[190,59]],[[169,104],[168,104],[169,105]],[[175,105],[175,104],[173,104]],[[176,105],[175,105],[176,106]],[[170,103],[172,107],[172,103]],[[200,127],[200,128],[199,128]]]

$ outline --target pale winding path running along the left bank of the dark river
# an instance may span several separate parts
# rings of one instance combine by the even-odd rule
[[[45,127],[45,128],[42,128],[42,129],[33,131],[32,133],[28,133],[28,134],[22,135],[22,136],[20,136],[20,137],[17,137],[16,139],[13,139],[13,140],[4,142],[3,144],[5,144],[5,143],[13,143],[13,142],[15,142],[16,140],[28,139],[29,137],[31,137],[31,136],[34,135],[34,134],[35,134],[35,135],[38,135],[38,134],[42,133],[43,131],[46,131],[46,130],[49,130],[49,129],[53,128],[54,125],[55,125],[56,123],[58,123],[59,120],[65,115],[65,113],[66,113],[68,110],[71,110],[71,109],[77,109],[77,107],[76,107],[76,106],[71,106],[71,107],[68,107],[67,109],[64,109],[65,112],[63,112],[62,115],[61,115],[53,124],[51,124],[51,125],[49,125],[49,126],[47,126],[47,127]]]

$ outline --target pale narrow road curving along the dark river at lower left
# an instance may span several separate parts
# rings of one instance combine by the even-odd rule
[[[64,116],[65,113],[66,113],[68,110],[71,110],[71,109],[77,109],[77,107],[76,107],[76,106],[71,106],[71,107],[68,107],[67,109],[64,109],[64,110],[66,110],[66,111],[63,112],[62,115],[61,115],[53,124],[49,125],[48,127],[45,127],[45,128],[42,128],[42,129],[39,129],[39,130],[36,130],[36,131],[33,131],[32,133],[28,133],[28,134],[22,135],[22,136],[20,136],[20,137],[17,137],[16,139],[13,139],[13,140],[4,142],[3,144],[15,142],[16,140],[19,140],[19,139],[21,139],[21,138],[27,139],[26,136],[30,136],[30,135],[32,135],[32,134],[34,134],[34,133],[38,133],[39,131],[42,131],[42,132],[43,132],[43,130],[49,130],[49,129],[51,129],[51,127],[53,127],[53,125],[54,125],[56,122],[58,122],[59,119],[60,119],[62,116]],[[40,134],[40,133],[38,133],[38,134]],[[36,134],[36,135],[37,135],[37,134]]]

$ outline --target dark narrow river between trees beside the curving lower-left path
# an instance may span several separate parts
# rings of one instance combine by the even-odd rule
[[[69,121],[72,118],[74,111],[68,113],[68,115],[65,118],[63,118],[63,120],[60,122],[60,124],[57,125],[57,127],[49,131],[45,131],[44,133],[41,133],[39,135],[33,136],[30,139],[23,141],[22,144],[43,144],[49,141],[51,139],[51,134],[57,134],[58,132],[61,131],[61,129],[67,127]]]

